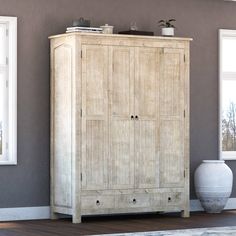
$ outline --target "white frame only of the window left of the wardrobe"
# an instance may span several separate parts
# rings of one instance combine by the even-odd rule
[[[0,23],[8,26],[8,140],[7,154],[0,165],[17,164],[17,17],[0,16]]]

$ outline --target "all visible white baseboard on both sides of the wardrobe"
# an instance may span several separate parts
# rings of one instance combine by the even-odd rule
[[[225,210],[236,209],[236,198],[230,198]],[[190,211],[204,211],[199,200],[190,200]],[[0,221],[50,219],[50,206],[0,208]]]

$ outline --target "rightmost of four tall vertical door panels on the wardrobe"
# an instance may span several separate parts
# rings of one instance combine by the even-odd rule
[[[184,185],[184,50],[164,49],[160,76],[160,183]]]

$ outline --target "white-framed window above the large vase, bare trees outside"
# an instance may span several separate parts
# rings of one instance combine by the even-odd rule
[[[220,30],[220,158],[236,160],[236,30]]]

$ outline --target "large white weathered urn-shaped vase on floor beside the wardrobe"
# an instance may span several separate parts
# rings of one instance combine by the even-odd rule
[[[220,213],[232,192],[233,174],[223,160],[203,160],[196,169],[197,197],[208,213]]]

